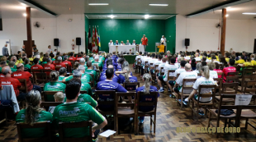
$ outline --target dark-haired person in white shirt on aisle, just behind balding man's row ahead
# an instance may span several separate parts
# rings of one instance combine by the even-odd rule
[[[168,75],[168,71],[170,71],[170,70],[175,70],[176,71],[178,69],[178,66],[174,65],[174,63],[176,62],[175,58],[169,56],[168,57],[168,62],[170,62],[170,64],[166,64],[164,66],[164,76],[157,77],[158,84],[160,86],[159,92],[164,92],[162,82],[167,81],[168,76],[174,76],[173,73],[170,73],[170,75]]]

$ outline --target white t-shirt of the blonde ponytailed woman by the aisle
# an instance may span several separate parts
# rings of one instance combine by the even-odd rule
[[[200,77],[196,80],[195,84],[193,85],[193,89],[197,89],[199,91],[199,85],[216,85],[216,82],[210,77],[208,80],[206,77]],[[211,88],[209,89],[201,89],[201,94],[211,94]],[[198,99],[198,98],[197,98]],[[209,102],[211,101],[212,97],[206,97],[206,98],[199,98],[199,101],[201,102]]]

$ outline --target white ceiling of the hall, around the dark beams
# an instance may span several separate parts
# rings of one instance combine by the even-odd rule
[[[20,0],[21,1],[21,0]],[[186,16],[195,11],[200,11],[207,7],[212,7],[222,2],[233,0],[31,0],[39,3],[40,6],[55,12],[57,15],[61,14],[83,14],[94,13],[95,15],[88,15],[89,18],[106,18],[105,14],[118,14],[119,18],[140,19],[139,16],[149,14],[154,19],[166,19],[167,16],[178,14]],[[108,6],[89,6],[88,3],[109,3]],[[150,3],[168,4],[168,7],[152,7]],[[26,5],[21,5],[17,0],[0,0],[0,17],[2,18],[21,18],[26,12]],[[70,10],[69,10],[70,8]],[[231,9],[234,10],[231,11]],[[235,9],[237,8],[237,9]],[[242,15],[242,12],[256,12],[256,0],[253,2],[246,2],[237,6],[231,7],[229,13],[230,19],[252,19],[254,16]],[[102,13],[104,15],[102,15]],[[119,15],[125,14],[125,15]],[[136,14],[136,15],[133,15]],[[137,15],[139,14],[139,15]],[[154,15],[154,14],[163,14]],[[32,7],[31,16],[36,18],[53,17],[46,12],[36,10]],[[126,18],[125,18],[126,17]],[[194,16],[193,18],[207,18],[219,19],[220,11],[206,13],[202,16]]]

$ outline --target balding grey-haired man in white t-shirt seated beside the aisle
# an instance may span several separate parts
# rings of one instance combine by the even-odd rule
[[[183,79],[197,79],[197,72],[191,71],[191,65],[187,63],[185,65],[185,72],[182,72],[178,79],[176,80],[176,84],[174,85],[173,91],[175,96],[182,92],[184,94],[190,94],[192,89],[183,89]],[[184,86],[193,86],[194,82],[185,82]]]

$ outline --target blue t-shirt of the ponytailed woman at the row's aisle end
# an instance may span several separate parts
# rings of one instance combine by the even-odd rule
[[[136,93],[138,92],[144,92],[145,86],[141,86],[136,90]],[[158,89],[155,86],[150,85],[149,92],[158,92]],[[158,93],[159,97],[159,93]],[[153,102],[154,96],[140,96],[140,102]],[[154,109],[154,106],[141,106],[139,108],[140,112],[150,112]]]

